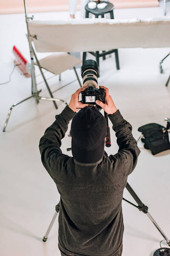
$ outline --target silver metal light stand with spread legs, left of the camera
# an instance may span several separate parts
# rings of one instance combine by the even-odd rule
[[[8,111],[8,115],[7,115],[7,118],[6,118],[5,125],[4,125],[4,127],[3,127],[3,131],[6,131],[6,126],[7,126],[7,124],[8,124],[8,119],[9,119],[9,116],[10,116],[10,114],[11,114],[12,109],[13,109],[15,106],[19,105],[19,104],[22,103],[22,102],[25,102],[25,101],[28,100],[28,99],[31,99],[31,98],[34,97],[34,99],[35,99],[35,101],[36,101],[37,104],[40,102],[40,99],[42,99],[42,100],[51,100],[51,101],[53,101],[54,106],[55,106],[56,109],[58,108],[58,107],[57,107],[57,104],[56,104],[56,101],[64,102],[66,105],[68,105],[65,100],[62,100],[62,99],[55,99],[55,98],[53,97],[53,94],[51,93],[50,87],[48,86],[48,83],[47,83],[47,81],[46,81],[46,79],[45,79],[45,76],[44,76],[44,74],[43,74],[43,72],[42,72],[42,68],[41,68],[41,66],[40,66],[40,62],[38,61],[37,56],[36,56],[36,53],[35,53],[34,48],[33,48],[33,46],[32,46],[32,40],[33,40],[33,39],[31,38],[29,29],[28,29],[28,22],[29,22],[29,20],[33,20],[34,16],[28,17],[26,0],[24,0],[24,8],[25,8],[26,25],[27,25],[27,31],[28,31],[27,38],[28,38],[28,44],[29,44],[29,50],[30,50],[30,56],[31,56],[31,96],[29,96],[28,98],[23,99],[22,101],[20,101],[20,102],[18,102],[18,103],[15,103],[14,105],[11,106],[11,108],[10,108],[9,111]],[[35,57],[35,59],[36,59],[37,66],[38,66],[39,69],[40,69],[42,78],[43,78],[43,80],[44,80],[44,82],[45,82],[45,85],[46,85],[46,87],[47,87],[47,89],[48,89],[48,92],[49,92],[51,98],[48,98],[48,97],[41,97],[41,96],[39,95],[40,92],[41,92],[41,90],[39,90],[39,91],[37,90],[37,81],[36,81],[35,67],[34,67],[34,57]]]

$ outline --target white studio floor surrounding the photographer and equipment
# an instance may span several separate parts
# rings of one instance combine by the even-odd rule
[[[163,0],[159,7],[116,9],[114,15],[121,19],[163,17]],[[168,15],[170,1],[167,2]],[[35,20],[65,18],[68,18],[68,12],[34,14]],[[13,45],[28,60],[29,51],[24,14],[0,15],[0,24],[0,83],[3,83],[8,80],[14,65]],[[164,118],[170,116],[170,84],[165,87],[170,74],[170,57],[163,63],[164,73],[159,73],[159,61],[169,51],[170,48],[119,49],[119,71],[113,55],[105,61],[100,58],[99,85],[109,88],[117,108],[132,124],[136,139],[140,135],[137,131],[140,126],[150,122],[166,125]],[[77,71],[81,77],[80,69]],[[49,85],[54,91],[74,79],[73,70],[68,70],[62,73],[62,81],[56,76],[49,80]],[[42,81],[41,76],[37,81]],[[78,88],[75,81],[54,93],[54,97],[69,102],[71,94]],[[44,83],[39,84],[38,89],[42,89],[42,96],[49,96]],[[2,132],[11,105],[31,95],[31,79],[14,70],[11,82],[0,85],[0,95],[0,255],[59,256],[58,221],[46,243],[42,242],[59,193],[42,166],[38,144],[45,129],[65,105],[58,103],[59,108],[55,110],[52,102],[41,101],[37,105],[34,99],[29,99],[14,108],[6,132]],[[106,150],[108,154],[114,154],[118,149],[114,132],[111,132],[111,140],[112,147]],[[62,142],[63,153],[71,155],[66,151],[70,146],[71,139],[66,135]],[[170,150],[153,156],[144,149],[142,142],[139,148],[139,162],[128,182],[170,239]],[[124,197],[134,203],[126,189]],[[124,201],[122,207],[125,223],[122,256],[153,256],[163,239],[161,234],[144,213]],[[162,246],[168,247],[166,242],[162,242]]]

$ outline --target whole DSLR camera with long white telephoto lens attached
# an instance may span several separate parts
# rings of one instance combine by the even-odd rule
[[[96,105],[96,100],[105,103],[105,90],[98,88],[99,67],[96,61],[84,61],[81,67],[81,76],[83,85],[88,85],[87,89],[81,92],[82,103]],[[99,108],[98,105],[97,107]]]

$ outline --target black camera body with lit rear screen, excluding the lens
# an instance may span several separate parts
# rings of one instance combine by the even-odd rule
[[[82,103],[83,104],[96,104],[96,100],[100,100],[105,103],[105,90],[102,88],[95,88],[94,86],[88,86],[85,91],[82,91]]]

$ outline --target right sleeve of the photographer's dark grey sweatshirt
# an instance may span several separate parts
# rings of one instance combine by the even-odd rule
[[[120,111],[108,115],[113,124],[113,130],[116,132],[118,153],[109,156],[112,168],[119,173],[119,177],[124,177],[124,183],[127,182],[127,176],[134,170],[140,150],[136,140],[132,135],[132,126],[127,122]]]

